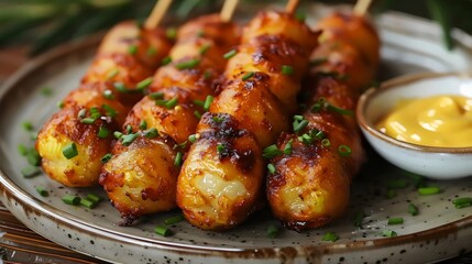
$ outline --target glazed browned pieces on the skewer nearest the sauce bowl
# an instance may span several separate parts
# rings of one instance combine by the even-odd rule
[[[275,217],[301,231],[340,217],[352,177],[364,160],[353,110],[362,88],[374,78],[380,40],[360,14],[334,13],[317,25],[318,62],[307,80],[312,94],[296,116],[294,132],[265,150],[272,157],[267,199]]]

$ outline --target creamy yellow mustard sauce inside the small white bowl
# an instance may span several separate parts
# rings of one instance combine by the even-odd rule
[[[472,98],[404,99],[376,124],[399,141],[426,146],[472,146]]]

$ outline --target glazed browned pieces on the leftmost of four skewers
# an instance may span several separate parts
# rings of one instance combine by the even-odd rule
[[[166,0],[164,0],[166,1]],[[44,172],[69,187],[98,183],[101,162],[131,107],[143,97],[172,42],[157,28],[122,22],[105,36],[79,88],[40,131],[36,150]]]

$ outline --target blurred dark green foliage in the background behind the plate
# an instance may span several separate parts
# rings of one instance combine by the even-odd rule
[[[190,13],[218,10],[222,2],[175,0],[169,11],[172,15],[168,16],[185,19]],[[249,2],[242,0],[241,4]],[[122,20],[144,20],[154,3],[155,0],[0,0],[0,47],[30,43],[30,55],[34,56],[66,41],[109,29]],[[397,10],[436,20],[443,30],[448,48],[453,47],[451,29],[460,28],[472,33],[472,0],[376,0],[372,10]]]

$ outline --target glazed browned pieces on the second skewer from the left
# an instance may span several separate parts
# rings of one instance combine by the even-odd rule
[[[124,130],[130,131],[123,131],[113,157],[102,167],[100,184],[121,213],[122,224],[176,207],[186,142],[216,95],[224,53],[239,38],[239,28],[218,14],[190,21],[178,31],[173,62],[156,72],[150,95],[127,118]],[[127,136],[135,140],[129,142]]]

